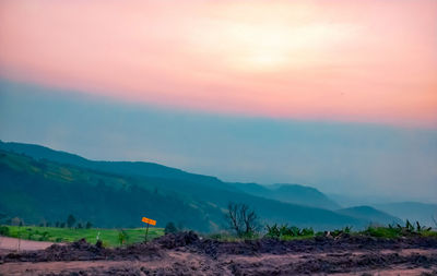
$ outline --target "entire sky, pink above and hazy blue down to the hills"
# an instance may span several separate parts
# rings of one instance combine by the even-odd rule
[[[3,0],[0,139],[437,197],[437,1]]]

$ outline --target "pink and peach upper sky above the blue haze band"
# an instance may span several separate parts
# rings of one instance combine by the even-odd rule
[[[437,127],[437,1],[3,0],[0,77],[218,113]]]

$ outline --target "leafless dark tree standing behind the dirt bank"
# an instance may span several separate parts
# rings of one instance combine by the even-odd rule
[[[250,237],[258,228],[258,216],[247,204],[229,202],[226,219],[238,237]]]

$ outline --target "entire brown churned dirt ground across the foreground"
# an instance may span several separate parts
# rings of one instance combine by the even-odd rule
[[[185,232],[123,249],[54,244],[0,262],[0,275],[437,275],[437,239],[218,242]]]

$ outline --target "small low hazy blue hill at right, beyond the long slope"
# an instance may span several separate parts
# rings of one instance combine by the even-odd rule
[[[367,220],[368,224],[371,225],[402,224],[402,220],[400,218],[393,217],[385,212],[381,212],[370,206],[342,208],[338,209],[336,213]]]

